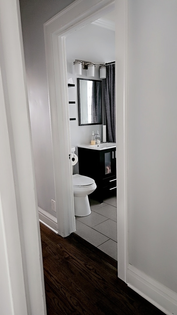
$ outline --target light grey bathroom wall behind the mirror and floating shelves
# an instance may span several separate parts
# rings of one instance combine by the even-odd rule
[[[76,101],[76,104],[69,104],[70,117],[76,120],[70,121],[71,144],[76,148],[81,144],[90,143],[91,134],[99,130],[102,141],[102,125],[79,126],[78,119],[78,97],[77,77],[89,78],[86,70],[82,69],[82,75],[74,74],[73,61],[75,59],[92,61],[93,63],[104,63],[115,60],[115,32],[106,28],[88,24],[81,29],[72,32],[66,37],[66,58],[68,78],[72,77],[75,88],[69,88],[69,101]],[[99,66],[95,66],[95,80],[100,80]],[[104,117],[103,117],[104,118]],[[74,166],[74,173],[78,173],[78,163]]]

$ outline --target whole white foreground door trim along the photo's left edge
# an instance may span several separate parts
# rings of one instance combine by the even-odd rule
[[[47,314],[19,1],[0,1],[0,313]]]

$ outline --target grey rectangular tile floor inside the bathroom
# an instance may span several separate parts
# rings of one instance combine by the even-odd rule
[[[91,214],[76,216],[75,233],[117,260],[117,203],[116,196],[103,203],[89,199]]]

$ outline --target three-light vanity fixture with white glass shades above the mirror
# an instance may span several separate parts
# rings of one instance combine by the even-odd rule
[[[79,60],[75,59],[74,61],[74,70],[75,74],[81,75],[82,69],[87,70],[87,76],[88,77],[94,77],[95,76],[95,65],[100,66],[100,79],[106,78],[106,65],[100,64],[100,63],[93,63],[91,61],[85,61],[85,60]]]

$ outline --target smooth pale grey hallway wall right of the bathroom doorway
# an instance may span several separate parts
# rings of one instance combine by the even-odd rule
[[[177,292],[177,2],[128,2],[130,264]]]

